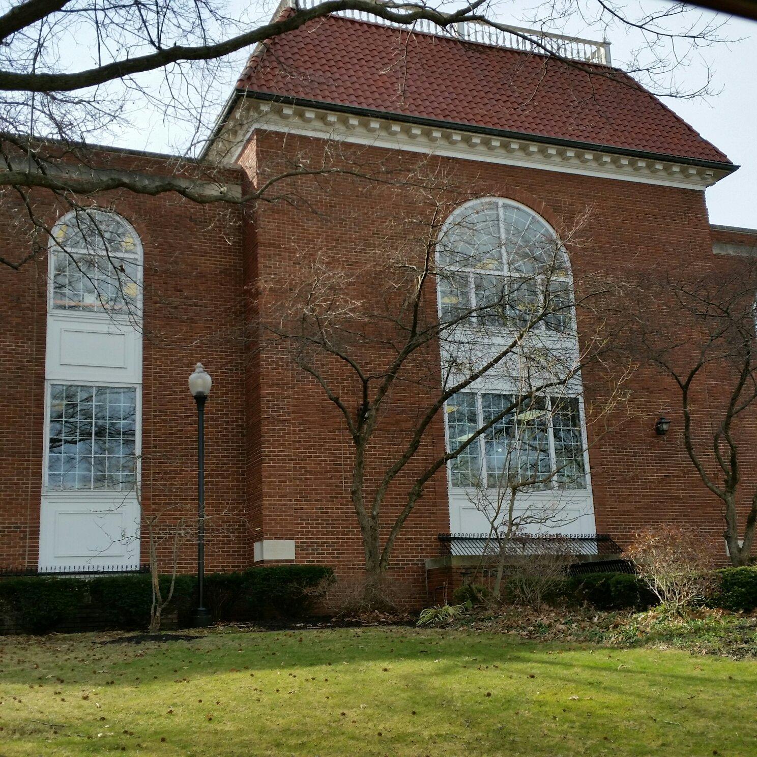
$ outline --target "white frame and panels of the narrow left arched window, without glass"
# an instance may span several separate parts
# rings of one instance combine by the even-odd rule
[[[61,245],[55,238],[64,223],[71,223],[67,213],[53,226],[48,242],[47,335],[45,355],[45,398],[42,435],[42,497],[39,521],[39,566],[78,568],[82,565],[139,565],[140,511],[139,482],[142,480],[142,304],[144,247],[136,229],[119,213],[108,208],[92,207],[118,216],[125,234],[132,236],[134,249],[129,259],[134,260],[138,276],[136,298],[128,307],[111,310],[96,307],[85,310],[54,307],[55,253]],[[73,211],[72,211],[73,212]],[[88,255],[95,250],[82,250]],[[71,252],[76,254],[76,249]],[[99,253],[103,254],[103,253]],[[127,257],[116,251],[114,257]],[[98,351],[92,359],[92,348]],[[100,345],[102,345],[100,347]],[[62,489],[48,485],[50,454],[50,403],[51,385],[84,385],[134,389],[136,394],[135,434],[135,486],[127,490],[106,488]],[[71,518],[84,519],[89,538],[76,539],[65,531]],[[123,541],[111,547],[100,544],[98,552],[90,543],[92,534],[110,533],[114,523],[122,524]],[[59,531],[64,528],[64,531]],[[65,535],[61,535],[65,534]],[[64,541],[61,543],[61,538]],[[96,537],[95,537],[96,541]]]

